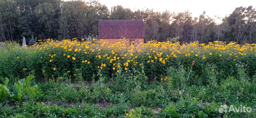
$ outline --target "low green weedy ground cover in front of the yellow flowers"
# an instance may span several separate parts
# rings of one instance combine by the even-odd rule
[[[255,77],[250,78],[242,72],[239,74],[240,78],[228,77],[216,85],[189,84],[183,96],[180,94],[183,86],[174,87],[175,81],[151,81],[145,86],[130,82],[126,83],[128,88],[118,90],[117,83],[107,82],[105,77],[98,81],[72,81],[70,84],[33,80],[32,84],[38,84],[42,93],[29,95],[21,102],[1,103],[0,117],[254,117]],[[218,109],[223,104],[247,105],[253,111],[219,113]]]

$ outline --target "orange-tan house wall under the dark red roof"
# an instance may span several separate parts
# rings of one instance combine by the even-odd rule
[[[137,43],[137,44],[144,43],[144,38],[126,38],[126,39],[121,38],[121,40],[120,40],[120,38],[103,38],[102,40],[108,41],[109,44],[127,41],[127,44],[129,45],[130,44],[129,40],[135,40],[135,43]]]

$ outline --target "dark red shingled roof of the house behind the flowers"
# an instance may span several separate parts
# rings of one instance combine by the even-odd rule
[[[145,38],[143,20],[99,20],[98,37]]]

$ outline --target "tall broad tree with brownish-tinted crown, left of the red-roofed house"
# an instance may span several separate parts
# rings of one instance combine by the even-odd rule
[[[83,1],[67,1],[61,6],[59,39],[82,37],[86,32],[88,6]]]

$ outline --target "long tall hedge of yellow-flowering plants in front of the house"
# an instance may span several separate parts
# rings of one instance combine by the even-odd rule
[[[98,69],[107,78],[114,77],[117,71],[121,70],[122,73],[132,74],[144,70],[144,75],[149,79],[160,81],[162,76],[171,74],[166,71],[170,66],[180,71],[182,78],[185,77],[193,60],[196,61],[191,73],[191,78],[196,79],[191,81],[193,85],[207,84],[207,81],[203,81],[206,77],[204,70],[210,68],[210,65],[213,65],[218,72],[214,75],[217,79],[237,73],[236,64],[240,63],[246,65],[247,75],[252,76],[256,72],[254,44],[239,45],[235,42],[226,44],[219,41],[208,44],[198,42],[180,44],[151,41],[129,47],[125,43],[47,39],[40,40],[37,45],[27,49],[17,43],[6,43],[0,52],[2,65],[0,76],[25,77],[34,74],[37,78],[49,79],[52,76],[64,76],[69,72],[71,79],[91,80],[91,77],[98,73]],[[180,84],[178,82],[180,79],[173,78],[173,80],[174,86]]]

